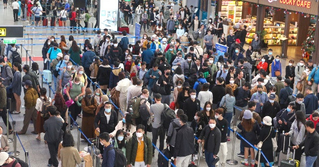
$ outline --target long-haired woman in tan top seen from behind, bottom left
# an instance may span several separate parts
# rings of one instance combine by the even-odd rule
[[[70,131],[66,131],[63,137],[62,149],[58,156],[61,160],[61,167],[76,167],[80,164],[82,159],[78,150],[74,148],[74,139]]]

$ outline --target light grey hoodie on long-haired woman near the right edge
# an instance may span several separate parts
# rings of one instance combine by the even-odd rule
[[[291,125],[289,135],[292,137],[291,143],[293,145],[299,145],[304,140],[306,127],[301,122],[299,123],[299,127],[300,127],[300,130],[298,131],[297,120],[295,120],[293,124]]]

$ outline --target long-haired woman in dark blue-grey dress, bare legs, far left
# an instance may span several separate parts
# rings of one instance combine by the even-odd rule
[[[12,82],[10,83],[8,89],[12,90],[15,99],[15,110],[11,111],[13,114],[20,114],[21,107],[21,91],[22,91],[22,77],[21,77],[21,65],[18,62],[12,63],[12,69],[15,71],[13,74]]]

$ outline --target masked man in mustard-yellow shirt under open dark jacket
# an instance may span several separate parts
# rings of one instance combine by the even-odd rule
[[[137,126],[126,146],[127,167],[151,167],[153,147],[144,125]]]

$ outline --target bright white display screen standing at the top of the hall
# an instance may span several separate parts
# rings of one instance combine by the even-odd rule
[[[100,0],[100,28],[111,31],[118,30],[118,0]]]

